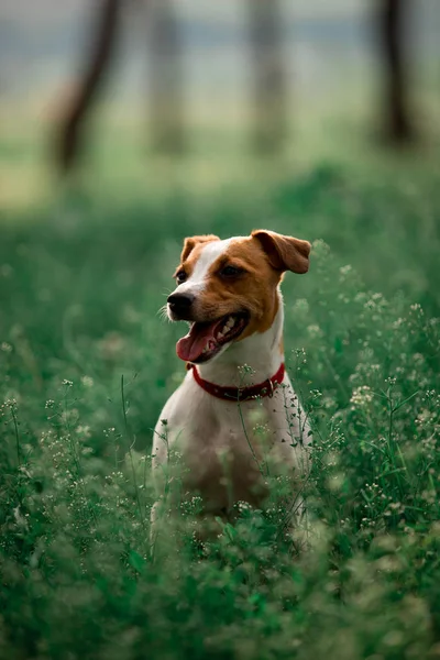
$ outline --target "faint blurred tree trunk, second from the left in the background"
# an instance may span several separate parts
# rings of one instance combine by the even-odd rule
[[[186,147],[183,45],[174,2],[156,1],[151,21],[148,51],[152,143],[156,151],[183,153]]]

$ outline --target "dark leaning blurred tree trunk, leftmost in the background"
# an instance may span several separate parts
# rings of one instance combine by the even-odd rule
[[[90,31],[89,51],[82,79],[62,118],[56,142],[56,162],[64,173],[74,168],[82,151],[88,111],[100,89],[114,51],[122,0],[100,0]]]

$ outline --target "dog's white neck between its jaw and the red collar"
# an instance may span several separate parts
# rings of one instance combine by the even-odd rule
[[[279,289],[276,295],[278,310],[271,328],[231,344],[212,362],[198,365],[202,378],[221,386],[245,386],[263,383],[278,371],[284,362],[284,310]],[[246,367],[250,367],[249,373]]]

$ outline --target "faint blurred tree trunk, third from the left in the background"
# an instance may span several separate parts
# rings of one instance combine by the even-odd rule
[[[279,151],[287,138],[287,84],[279,0],[248,0],[254,87],[253,145],[261,153]]]

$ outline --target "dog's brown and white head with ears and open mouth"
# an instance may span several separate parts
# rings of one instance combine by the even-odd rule
[[[185,239],[168,297],[173,321],[189,321],[177,355],[208,362],[232,342],[267,330],[278,310],[277,286],[285,271],[307,273],[310,243],[273,231],[221,241],[215,235]]]

